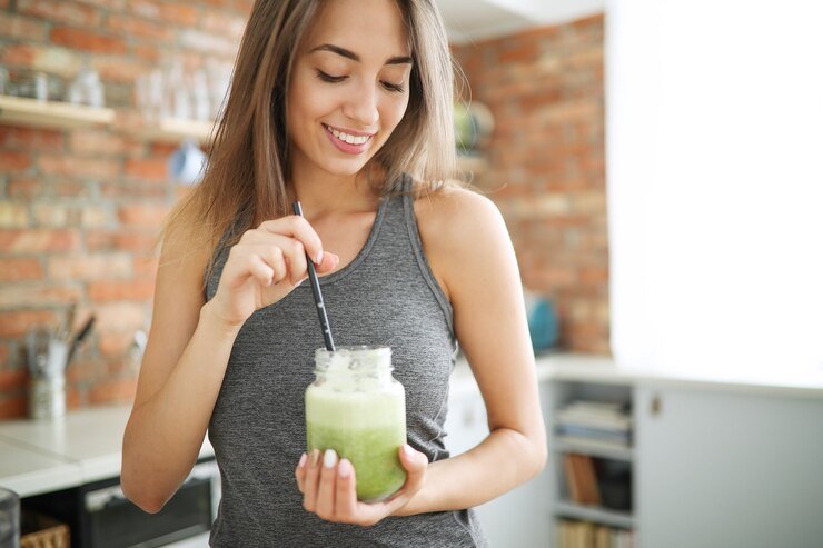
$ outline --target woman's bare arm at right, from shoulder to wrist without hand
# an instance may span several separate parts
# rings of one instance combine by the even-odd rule
[[[472,450],[432,462],[420,490],[395,515],[478,506],[528,481],[546,464],[523,287],[495,205],[467,190],[422,200],[427,258],[454,309],[454,326],[486,403],[489,435]]]

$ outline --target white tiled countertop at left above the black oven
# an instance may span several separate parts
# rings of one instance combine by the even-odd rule
[[[119,476],[130,412],[130,405],[100,406],[56,420],[0,421],[0,486],[28,497]],[[211,455],[206,439],[199,456]]]

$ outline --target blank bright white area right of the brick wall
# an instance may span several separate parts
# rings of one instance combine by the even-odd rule
[[[823,4],[609,0],[612,346],[823,372]]]

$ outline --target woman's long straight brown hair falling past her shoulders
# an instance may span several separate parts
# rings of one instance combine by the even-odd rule
[[[249,17],[208,151],[201,182],[169,216],[160,238],[178,226],[207,237],[214,249],[226,231],[234,245],[256,222],[290,212],[286,195],[289,80],[295,56],[325,0],[257,0]],[[364,167],[386,195],[403,172],[419,193],[456,175],[453,79],[456,69],[445,27],[433,0],[396,0],[412,51],[409,102],[386,143]],[[373,173],[379,173],[376,183]],[[239,223],[237,226],[236,223]],[[207,266],[206,280],[212,261]]]

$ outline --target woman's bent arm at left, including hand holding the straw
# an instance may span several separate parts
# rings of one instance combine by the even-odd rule
[[[122,446],[123,494],[145,511],[159,511],[194,467],[240,327],[306,277],[306,251],[323,252],[305,220],[266,221],[231,249],[217,295],[204,302],[201,276],[210,250],[173,231],[167,236]],[[337,257],[325,253],[317,270],[336,265]],[[272,279],[285,282],[271,287]]]

